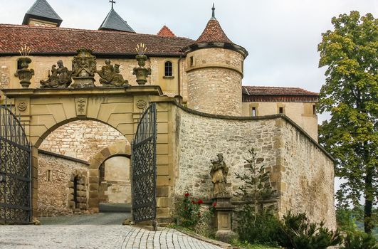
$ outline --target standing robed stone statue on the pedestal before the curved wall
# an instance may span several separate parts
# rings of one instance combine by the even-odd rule
[[[223,154],[219,153],[217,160],[211,160],[211,181],[214,184],[214,197],[228,196],[226,191],[226,177],[229,167],[224,162]]]

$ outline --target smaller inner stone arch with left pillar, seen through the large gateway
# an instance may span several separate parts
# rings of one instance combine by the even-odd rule
[[[89,160],[89,198],[88,198],[88,208],[93,213],[98,213],[99,211],[99,186],[100,186],[100,166],[107,159],[112,157],[128,157],[131,156],[131,145],[127,140],[122,140],[115,142],[110,147],[107,147],[93,158]]]

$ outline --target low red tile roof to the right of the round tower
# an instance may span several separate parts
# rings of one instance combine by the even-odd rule
[[[303,88],[243,86],[243,102],[317,102],[318,92]]]

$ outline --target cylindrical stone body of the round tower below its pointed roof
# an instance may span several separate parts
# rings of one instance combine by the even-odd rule
[[[243,60],[240,53],[224,48],[188,53],[188,107],[199,112],[241,116]]]

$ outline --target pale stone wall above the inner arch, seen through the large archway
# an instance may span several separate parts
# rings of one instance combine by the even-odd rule
[[[58,127],[43,140],[39,149],[88,161],[101,149],[125,140],[110,125],[80,120]]]

